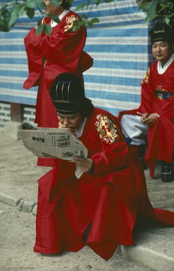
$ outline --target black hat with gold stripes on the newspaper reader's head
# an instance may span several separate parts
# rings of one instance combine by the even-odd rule
[[[85,98],[80,78],[68,72],[59,74],[49,91],[56,111],[61,114],[75,114],[80,110],[81,102]]]

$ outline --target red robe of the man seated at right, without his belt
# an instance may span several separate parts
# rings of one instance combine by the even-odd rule
[[[163,74],[158,74],[158,61],[146,72],[141,82],[141,103],[139,108],[120,112],[139,115],[139,113],[157,113],[160,115],[154,125],[147,130],[148,147],[145,160],[154,176],[155,160],[172,163],[174,151],[174,95],[170,99],[159,99],[155,90],[174,93],[174,61]]]

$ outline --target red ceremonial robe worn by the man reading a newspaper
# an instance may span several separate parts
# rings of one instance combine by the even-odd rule
[[[134,244],[138,214],[174,225],[173,212],[153,209],[136,148],[127,146],[116,117],[94,108],[79,139],[88,148],[94,172],[77,179],[74,163],[57,160],[38,180],[35,252],[75,252],[87,244],[108,260],[118,244]]]

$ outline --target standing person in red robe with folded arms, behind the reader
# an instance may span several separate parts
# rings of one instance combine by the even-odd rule
[[[57,24],[45,17],[42,24],[50,24],[51,35],[36,35],[32,29],[25,37],[28,56],[29,77],[25,89],[38,85],[35,123],[39,127],[57,127],[56,110],[49,96],[49,88],[55,77],[62,72],[71,72],[82,79],[82,73],[93,65],[92,58],[83,51],[86,41],[86,28],[81,26],[72,31],[73,23],[79,24],[80,17],[70,11],[66,0],[58,0],[59,6],[45,0],[47,15],[59,17]]]

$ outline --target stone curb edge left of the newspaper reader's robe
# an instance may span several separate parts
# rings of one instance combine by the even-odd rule
[[[0,202],[10,205],[11,207],[16,207],[18,210],[23,212],[32,213],[36,215],[37,203],[31,202],[27,198],[13,198],[9,195],[0,193]]]

